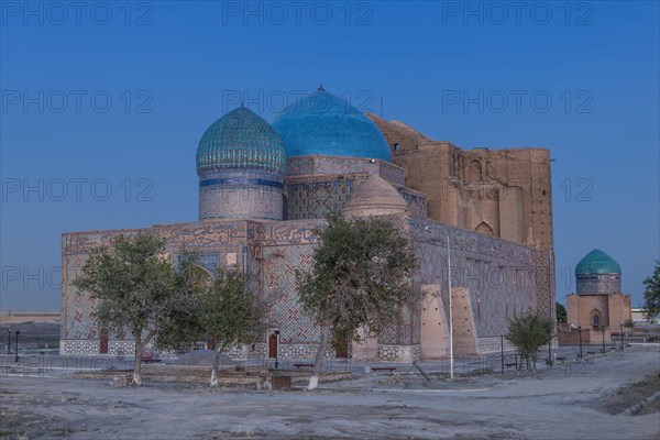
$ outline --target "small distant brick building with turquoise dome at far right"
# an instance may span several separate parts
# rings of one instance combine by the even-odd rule
[[[595,249],[575,266],[576,295],[566,297],[566,326],[560,330],[560,342],[575,342],[575,331],[584,343],[601,343],[619,333],[632,318],[630,295],[622,293],[622,268],[605,252]],[[572,332],[570,331],[572,329]]]

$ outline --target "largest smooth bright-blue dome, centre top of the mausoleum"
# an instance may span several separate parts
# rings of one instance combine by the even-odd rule
[[[273,128],[287,157],[318,154],[392,162],[387,141],[376,124],[322,87],[287,106]]]

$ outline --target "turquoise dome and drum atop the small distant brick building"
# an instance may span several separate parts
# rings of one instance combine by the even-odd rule
[[[591,251],[575,266],[578,295],[622,293],[622,267],[600,249]]]

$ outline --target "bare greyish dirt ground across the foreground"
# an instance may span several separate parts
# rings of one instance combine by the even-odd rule
[[[658,391],[659,374],[656,346],[537,377],[364,374],[316,392],[2,376],[0,438],[657,440],[657,405],[620,413]]]

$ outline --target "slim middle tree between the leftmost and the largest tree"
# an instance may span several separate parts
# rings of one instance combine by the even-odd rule
[[[252,295],[245,292],[243,274],[237,270],[219,270],[212,286],[199,299],[200,327],[216,341],[211,386],[218,386],[218,364],[222,353],[234,343],[255,339],[258,317]]]

